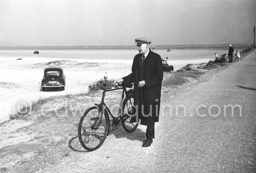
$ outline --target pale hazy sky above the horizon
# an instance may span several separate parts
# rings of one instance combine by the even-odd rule
[[[253,44],[256,0],[0,0],[0,46]]]

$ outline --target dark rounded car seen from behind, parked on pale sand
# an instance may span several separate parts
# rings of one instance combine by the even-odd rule
[[[47,88],[60,88],[65,90],[65,75],[62,68],[51,67],[44,70],[44,77],[41,82],[42,91]]]

